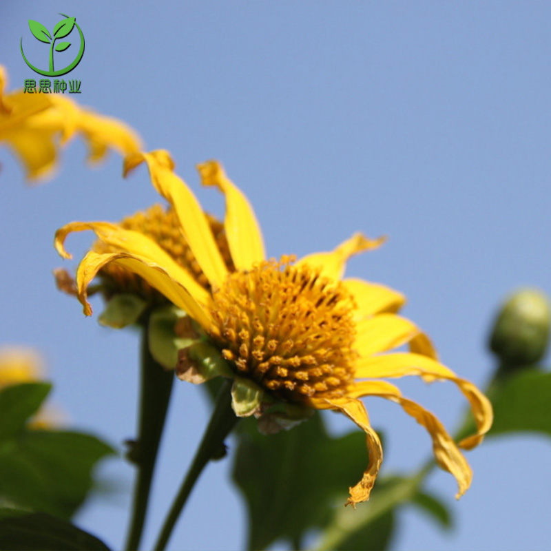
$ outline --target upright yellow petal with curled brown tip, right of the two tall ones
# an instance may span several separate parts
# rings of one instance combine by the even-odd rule
[[[226,197],[224,228],[233,264],[237,270],[250,270],[264,260],[262,233],[254,211],[242,191],[227,178],[222,165],[208,160],[197,165],[201,183],[215,186]]]

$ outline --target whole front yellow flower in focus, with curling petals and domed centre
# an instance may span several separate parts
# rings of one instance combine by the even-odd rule
[[[380,439],[359,399],[371,395],[399,404],[428,430],[437,463],[454,475],[457,497],[462,495],[472,472],[459,448],[470,449],[482,441],[492,423],[492,408],[476,386],[438,362],[430,340],[415,324],[397,315],[403,295],[380,284],[342,278],[351,256],[379,246],[382,240],[356,234],[331,252],[298,262],[290,257],[265,260],[247,198],[218,163],[209,161],[198,170],[203,185],[225,195],[225,238],[234,267],[229,269],[205,213],[174,174],[169,154],[129,156],[125,172],[143,162],[156,190],[174,208],[183,238],[209,285],[201,284],[192,271],[140,231],[108,222],[72,222],[56,233],[61,256],[71,258],[63,244],[72,231],[91,229],[110,249],[89,251],[79,264],[76,287],[85,314],[92,313],[87,287],[98,271],[116,265],[136,273],[196,320],[236,377],[253,381],[283,402],[340,411],[364,430],[368,467],[350,488],[349,503],[368,499],[382,462]],[[409,352],[393,351],[404,344]],[[477,433],[455,444],[432,413],[381,380],[405,375],[457,384],[470,403]]]

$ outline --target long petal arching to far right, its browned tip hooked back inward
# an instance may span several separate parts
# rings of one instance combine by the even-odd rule
[[[457,377],[453,371],[436,360],[415,353],[397,352],[373,357],[361,357],[356,363],[355,377],[359,379],[395,378],[405,377],[406,375],[417,375],[426,382],[449,380],[457,384],[468,399],[472,415],[474,415],[477,424],[477,433],[461,440],[459,446],[470,450],[481,443],[484,435],[492,426],[492,404],[471,382]]]

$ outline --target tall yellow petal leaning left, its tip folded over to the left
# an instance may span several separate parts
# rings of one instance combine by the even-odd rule
[[[176,210],[184,236],[203,273],[213,287],[220,287],[226,278],[227,267],[198,200],[185,182],[174,174],[174,161],[164,150],[127,156],[125,175],[144,161],[155,189]]]

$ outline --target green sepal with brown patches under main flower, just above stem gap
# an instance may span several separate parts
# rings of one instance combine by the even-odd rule
[[[182,381],[202,384],[214,377],[233,378],[233,371],[214,346],[208,342],[194,342],[178,353],[176,376]]]

